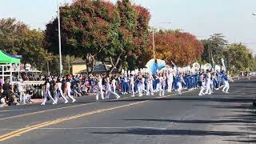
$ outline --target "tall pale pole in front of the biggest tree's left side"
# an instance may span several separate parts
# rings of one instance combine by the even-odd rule
[[[61,18],[59,14],[59,2],[58,2],[58,52],[59,52],[59,75],[62,76],[62,38],[61,38]]]

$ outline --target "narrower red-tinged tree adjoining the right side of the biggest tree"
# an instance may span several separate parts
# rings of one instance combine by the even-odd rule
[[[134,70],[134,68],[142,66],[139,58],[146,53],[150,12],[142,6],[132,5],[130,0],[120,0],[117,2],[117,6],[121,18],[121,33],[119,35],[122,53],[118,54],[121,56],[120,59],[115,61],[118,63],[119,69],[127,62],[129,67],[126,69]]]

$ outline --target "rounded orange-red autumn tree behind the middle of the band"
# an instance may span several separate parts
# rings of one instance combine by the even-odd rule
[[[152,36],[150,36],[150,39]],[[165,60],[168,65],[187,66],[200,60],[203,46],[194,35],[179,30],[160,30],[154,34],[156,58]],[[153,45],[148,46],[144,64],[153,58]]]

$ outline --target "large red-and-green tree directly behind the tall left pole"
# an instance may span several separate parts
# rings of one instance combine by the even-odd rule
[[[114,4],[102,0],[75,1],[60,9],[63,54],[86,59],[88,72],[93,72],[95,58],[116,53],[118,13]],[[47,47],[58,48],[58,19],[46,26]]]

